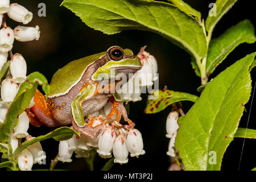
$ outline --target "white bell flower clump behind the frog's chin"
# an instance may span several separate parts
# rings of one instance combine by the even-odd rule
[[[142,68],[117,90],[122,101],[141,101],[142,87],[152,86],[158,80],[158,63],[155,57],[146,51],[137,56],[141,59]]]

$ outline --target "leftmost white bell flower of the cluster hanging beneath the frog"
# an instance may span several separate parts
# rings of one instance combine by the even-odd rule
[[[73,150],[69,149],[68,140],[60,141],[58,159],[61,162],[70,163],[72,162],[72,159],[71,159],[72,154],[73,154]]]

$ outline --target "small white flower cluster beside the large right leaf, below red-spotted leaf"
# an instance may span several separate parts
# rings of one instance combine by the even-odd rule
[[[177,129],[179,129],[179,125],[177,124],[178,118],[179,118],[179,113],[177,113],[177,111],[172,111],[168,115],[166,120],[166,131],[167,131],[166,137],[170,138],[167,155],[170,155],[172,157],[175,156],[174,143],[175,143],[175,138],[177,136]]]

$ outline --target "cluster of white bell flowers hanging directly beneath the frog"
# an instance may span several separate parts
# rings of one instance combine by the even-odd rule
[[[112,103],[108,102],[100,111],[93,113],[88,118],[98,119],[105,118],[112,108]],[[114,119],[114,117],[113,117]],[[59,144],[59,160],[61,162],[71,162],[73,152],[76,153],[76,158],[89,158],[89,151],[95,149],[101,158],[112,158],[114,155],[115,163],[127,163],[128,155],[139,156],[143,155],[143,140],[139,130],[131,126],[121,125],[121,123],[113,121],[106,123],[104,130],[97,139],[91,139],[76,134],[73,138],[61,141]]]

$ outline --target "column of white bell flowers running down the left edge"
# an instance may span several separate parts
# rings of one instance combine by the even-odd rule
[[[14,30],[11,27],[8,27],[6,25],[6,15],[16,22],[23,24],[29,23],[33,16],[30,11],[23,6],[18,5],[18,3],[10,4],[10,0],[0,1],[0,69],[2,69],[3,65],[7,63],[7,59],[10,58],[9,71],[5,76],[5,79],[1,82],[0,125],[5,121],[6,113],[13,102],[16,93],[18,93],[20,84],[26,80],[27,74],[27,65],[24,57],[19,53],[15,53],[13,55],[11,52],[14,39],[20,42],[26,42],[38,40],[40,37],[38,26],[35,28],[17,26]],[[32,98],[28,107],[32,107],[33,105],[34,99]],[[10,146],[13,152],[16,147],[18,147],[19,139],[32,139],[32,137],[27,133],[28,127],[29,118],[26,111],[24,111],[19,115],[18,124],[11,134]],[[10,150],[7,144],[2,145]],[[10,154],[10,151],[8,154]],[[20,170],[31,170],[33,164],[40,163],[45,158],[46,156],[43,154],[42,146],[37,142],[20,152],[18,156],[18,166]]]

